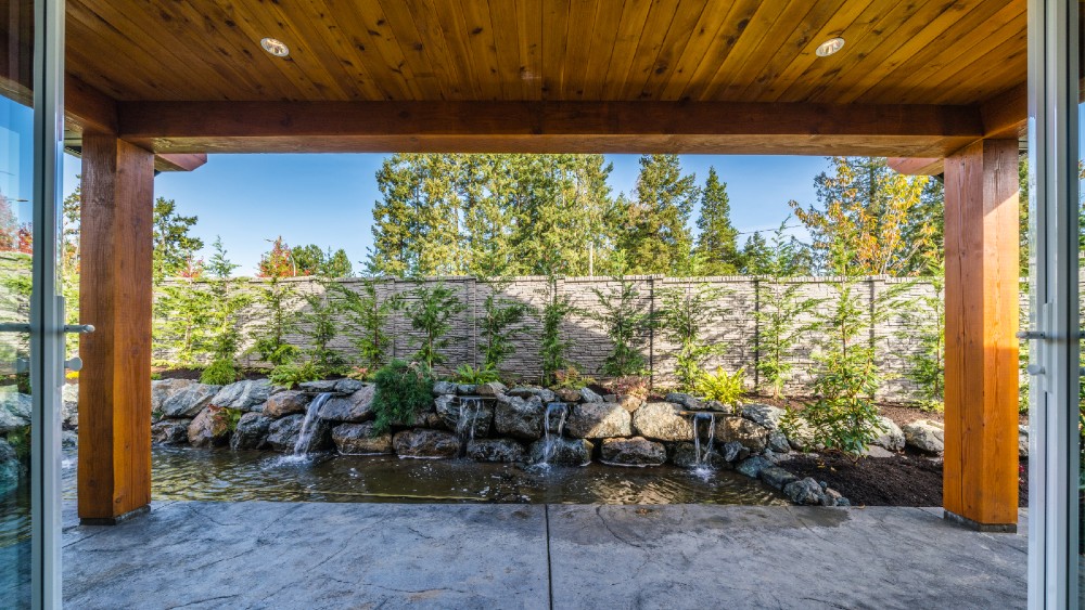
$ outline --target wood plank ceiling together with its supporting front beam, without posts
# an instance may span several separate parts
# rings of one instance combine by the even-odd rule
[[[67,0],[67,16],[69,138],[159,154],[939,158],[1025,118],[1025,0]]]

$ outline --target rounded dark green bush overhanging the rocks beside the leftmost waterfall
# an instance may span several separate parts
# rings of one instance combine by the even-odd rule
[[[433,404],[433,373],[424,363],[393,360],[373,375],[373,433],[414,421]]]

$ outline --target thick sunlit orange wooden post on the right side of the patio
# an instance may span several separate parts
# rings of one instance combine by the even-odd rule
[[[946,158],[943,504],[990,531],[1018,521],[1018,190],[1017,140]]]

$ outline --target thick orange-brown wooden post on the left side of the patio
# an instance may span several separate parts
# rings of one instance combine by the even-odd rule
[[[154,155],[84,134],[79,518],[116,523],[151,502]]]

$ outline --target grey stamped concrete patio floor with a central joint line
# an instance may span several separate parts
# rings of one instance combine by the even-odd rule
[[[155,503],[65,510],[71,608],[1022,608],[1018,534],[941,509]]]

